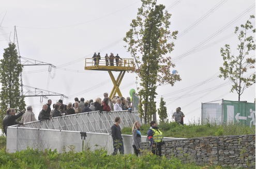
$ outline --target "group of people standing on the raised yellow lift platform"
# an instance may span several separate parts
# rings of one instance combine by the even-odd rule
[[[100,53],[98,53],[97,55],[95,52],[93,55],[94,65],[99,65],[100,59],[101,59]],[[116,66],[122,66],[122,58],[120,58],[118,54],[116,54],[116,56],[114,56],[113,53],[110,53],[110,55],[108,54],[105,55],[106,66],[108,65],[114,66],[114,61],[116,63]]]

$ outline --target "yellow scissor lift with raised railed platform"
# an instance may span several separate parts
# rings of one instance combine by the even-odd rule
[[[125,72],[132,71],[134,69],[133,59],[121,58],[121,59],[119,59],[118,65],[116,65],[115,60],[113,62],[111,62],[112,64],[110,65],[110,62],[106,62],[105,58],[102,58],[99,60],[98,60],[98,58],[96,58],[96,59],[97,60],[94,61],[93,58],[86,58],[84,69],[91,70],[91,71],[108,71],[109,76],[114,85],[114,87],[109,95],[109,98],[112,99],[116,93],[118,94],[118,96],[122,96],[119,86],[122,82]],[[108,63],[108,65],[107,65],[107,63]],[[115,79],[112,71],[120,72],[119,75],[117,76],[117,79]]]

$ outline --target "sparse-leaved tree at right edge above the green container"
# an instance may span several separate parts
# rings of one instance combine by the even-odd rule
[[[250,35],[251,32],[255,33],[255,28],[251,24],[250,19],[240,27],[235,27],[235,33],[238,38],[237,54],[233,55],[230,45],[225,44],[221,47],[220,53],[223,58],[223,66],[220,67],[220,78],[229,79],[232,82],[231,92],[236,91],[238,94],[238,101],[240,96],[244,93],[245,89],[255,83],[255,50],[254,38]],[[249,54],[254,55],[253,57]]]

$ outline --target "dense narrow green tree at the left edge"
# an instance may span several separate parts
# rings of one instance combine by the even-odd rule
[[[3,127],[3,117],[8,108],[23,110],[25,108],[24,97],[20,92],[20,74],[22,65],[14,43],[9,43],[9,47],[4,49],[3,59],[0,60],[0,82],[2,90],[0,92],[0,124]]]

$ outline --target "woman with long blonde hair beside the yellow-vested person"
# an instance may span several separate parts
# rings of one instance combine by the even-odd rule
[[[132,126],[132,147],[136,156],[140,154],[140,145],[141,145],[141,123],[135,122]]]

